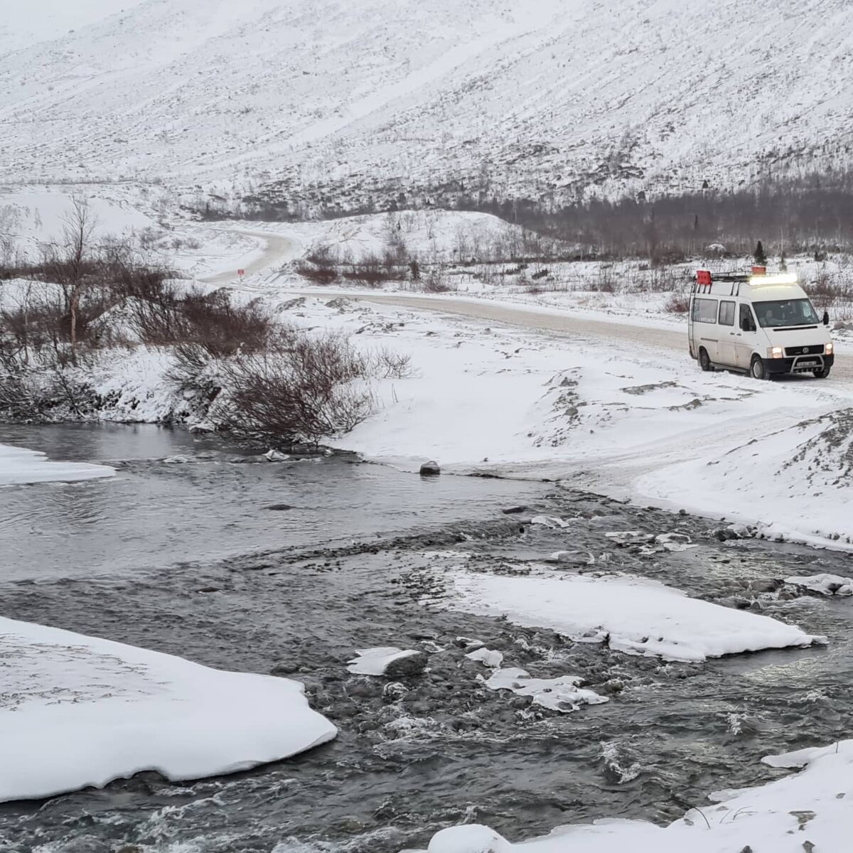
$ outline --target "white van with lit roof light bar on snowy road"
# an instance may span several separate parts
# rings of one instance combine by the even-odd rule
[[[828,327],[829,316],[817,316],[793,274],[769,276],[761,267],[751,275],[696,273],[688,339],[703,370],[826,379],[835,357]]]

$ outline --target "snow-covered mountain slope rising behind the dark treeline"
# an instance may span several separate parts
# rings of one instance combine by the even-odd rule
[[[848,0],[87,3],[0,49],[0,180],[571,200],[853,156]]]

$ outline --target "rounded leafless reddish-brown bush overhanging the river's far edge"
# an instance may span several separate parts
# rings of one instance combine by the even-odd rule
[[[223,365],[229,391],[216,419],[243,438],[318,444],[372,414],[373,394],[360,381],[367,374],[368,365],[344,337],[297,335],[287,349]]]

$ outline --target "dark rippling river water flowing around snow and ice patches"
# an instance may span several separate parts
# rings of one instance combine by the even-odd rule
[[[142,774],[0,805],[0,850],[391,853],[463,821],[514,840],[600,817],[669,821],[712,790],[775,778],[758,763],[765,754],[850,734],[851,601],[779,583],[850,575],[845,554],[721,543],[705,519],[554,484],[421,479],[340,458],[246,461],[154,427],[3,427],[0,442],[119,467],[113,480],[0,490],[3,615],[293,674],[340,729],[331,744],[240,775],[170,785]],[[281,504],[293,509],[268,508]],[[518,505],[528,509],[502,512]],[[526,525],[537,512],[577,521]],[[687,532],[699,547],[648,558],[604,536],[627,529]],[[661,664],[423,606],[422,570],[450,548],[485,572],[589,548],[613,568],[760,609],[830,644]],[[481,688],[460,635],[537,676],[582,675],[611,701],[531,713]],[[397,693],[345,670],[357,647],[425,642],[446,651]]]

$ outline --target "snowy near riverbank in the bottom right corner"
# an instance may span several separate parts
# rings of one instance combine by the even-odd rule
[[[720,792],[716,805],[692,809],[668,827],[645,821],[598,821],[560,827],[509,844],[488,827],[453,827],[432,838],[429,853],[844,853],[853,833],[853,740],[764,759],[801,767],[797,775],[742,791]]]

